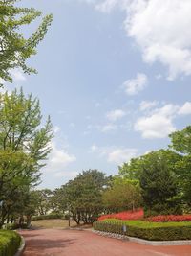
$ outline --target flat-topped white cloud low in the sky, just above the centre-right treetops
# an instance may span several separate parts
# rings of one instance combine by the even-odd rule
[[[94,144],[91,147],[91,152],[98,154],[100,157],[106,157],[109,163],[120,165],[136,157],[138,150],[117,147],[97,147],[96,144]]]

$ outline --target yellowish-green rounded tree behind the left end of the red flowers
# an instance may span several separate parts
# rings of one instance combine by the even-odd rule
[[[103,205],[109,212],[134,211],[141,205],[139,185],[116,176],[111,187],[103,192]]]

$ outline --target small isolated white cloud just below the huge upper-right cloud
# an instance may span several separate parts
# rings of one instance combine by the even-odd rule
[[[123,87],[125,88],[125,92],[128,95],[138,94],[138,91],[143,90],[147,86],[147,76],[142,73],[137,74],[136,79],[127,80],[123,83]]]

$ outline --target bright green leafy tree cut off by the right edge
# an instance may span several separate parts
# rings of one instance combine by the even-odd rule
[[[191,126],[170,134],[170,149],[180,155],[176,164],[176,174],[179,177],[182,199],[191,207]]]

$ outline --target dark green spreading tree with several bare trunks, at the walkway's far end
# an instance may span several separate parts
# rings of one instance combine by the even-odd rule
[[[103,209],[102,193],[108,178],[97,170],[83,171],[62,186],[67,210],[79,224],[93,223]]]

